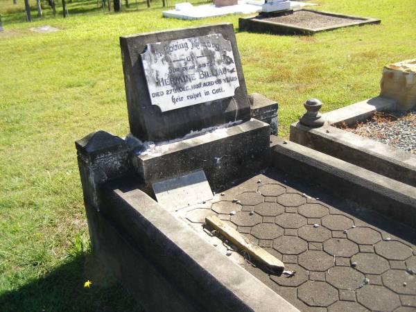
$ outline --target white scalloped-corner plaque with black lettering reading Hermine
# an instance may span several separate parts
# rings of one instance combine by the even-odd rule
[[[221,34],[147,44],[141,60],[150,101],[162,112],[234,96],[240,86]]]

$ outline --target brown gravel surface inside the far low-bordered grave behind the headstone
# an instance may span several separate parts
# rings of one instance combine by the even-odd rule
[[[295,11],[291,15],[284,15],[278,17],[268,17],[265,21],[274,21],[275,23],[287,24],[292,26],[300,26],[311,29],[338,26],[349,24],[354,21],[363,21],[364,19],[354,19],[347,17],[334,17],[331,15],[324,15],[319,12],[310,11]]]

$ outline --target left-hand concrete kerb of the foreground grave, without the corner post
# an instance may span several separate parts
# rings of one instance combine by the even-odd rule
[[[109,234],[110,227],[103,222],[90,229],[99,228],[99,232],[114,238],[111,254],[94,252],[103,256],[103,263],[117,263],[118,268],[123,268],[124,272],[117,272],[119,278],[133,295],[146,295],[148,306],[145,308],[154,311],[155,307],[161,306],[162,296],[171,300],[179,294],[176,308],[169,311],[298,311],[221,254],[186,223],[160,207],[134,183],[125,181],[105,184],[101,191],[105,205],[100,212],[94,211],[107,223],[112,220],[112,234]],[[127,239],[127,245],[116,243],[116,236]],[[97,235],[92,234],[92,237]],[[107,243],[96,241],[94,246],[109,248]],[[125,272],[135,270],[128,268],[127,263],[148,266],[149,272],[157,272],[157,276],[141,268],[143,275],[138,279]],[[162,287],[162,291],[167,289],[168,293],[161,294],[156,290],[160,281],[169,284],[167,288],[166,285]],[[147,285],[155,287],[155,294],[148,292]],[[177,309],[181,305],[182,308]],[[159,311],[167,311],[166,305],[162,305]]]

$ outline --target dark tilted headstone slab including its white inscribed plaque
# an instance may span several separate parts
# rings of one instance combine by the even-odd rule
[[[250,119],[232,24],[120,38],[130,132],[166,141]]]

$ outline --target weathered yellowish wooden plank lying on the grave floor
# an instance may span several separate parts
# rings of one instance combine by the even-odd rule
[[[250,241],[250,239],[241,235],[235,229],[224,223],[216,216],[207,216],[205,218],[207,225],[216,229],[220,234],[225,236],[233,245],[250,254],[250,257],[257,260],[259,263],[266,266],[272,272],[282,272],[284,270],[284,263],[276,257],[269,254],[266,250],[261,248],[256,243]]]

